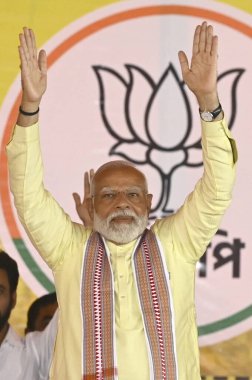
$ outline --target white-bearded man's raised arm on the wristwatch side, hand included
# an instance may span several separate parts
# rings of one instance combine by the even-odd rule
[[[217,93],[217,45],[212,26],[197,26],[189,67],[184,52],[179,60],[184,81],[195,94],[202,111],[213,111],[219,105]],[[216,233],[231,202],[235,179],[237,152],[223,119],[223,112],[212,122],[201,120],[204,173],[194,191],[172,217],[158,221],[156,229],[166,239],[167,229],[173,237],[175,252],[184,260],[194,262],[204,253]]]

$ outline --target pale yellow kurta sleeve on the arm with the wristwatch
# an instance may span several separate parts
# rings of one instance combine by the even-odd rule
[[[202,121],[202,152],[204,171],[194,190],[174,215],[153,226],[161,241],[169,236],[175,252],[192,262],[205,252],[232,198],[237,149],[225,119]]]

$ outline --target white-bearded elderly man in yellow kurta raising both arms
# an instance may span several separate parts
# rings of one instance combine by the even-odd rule
[[[201,113],[204,173],[194,191],[147,229],[145,176],[109,162],[94,175],[93,228],[85,228],[44,189],[38,114],[46,53],[37,56],[32,30],[20,34],[23,93],[7,152],[20,220],[55,278],[60,322],[51,379],[200,379],[195,265],[230,204],[237,158],[217,94],[217,45],[203,22],[190,66],[179,52]]]

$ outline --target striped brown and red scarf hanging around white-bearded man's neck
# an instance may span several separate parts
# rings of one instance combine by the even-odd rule
[[[177,380],[169,281],[154,233],[145,230],[133,255],[133,271],[149,345],[150,379]],[[83,380],[118,379],[113,274],[103,238],[87,242],[82,273]]]

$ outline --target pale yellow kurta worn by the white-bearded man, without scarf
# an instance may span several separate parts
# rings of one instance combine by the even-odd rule
[[[152,226],[170,275],[179,380],[199,380],[194,306],[195,265],[230,204],[237,153],[225,120],[202,122],[204,174],[184,205]],[[82,321],[80,281],[90,230],[73,223],[44,189],[38,125],[15,127],[7,146],[15,205],[31,241],[52,268],[60,308],[51,369],[53,380],[80,380]],[[135,242],[107,242],[114,274],[119,380],[149,380],[142,316],[132,273]]]

